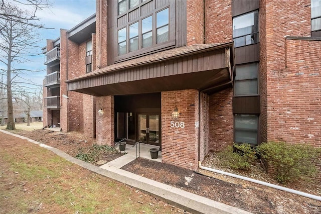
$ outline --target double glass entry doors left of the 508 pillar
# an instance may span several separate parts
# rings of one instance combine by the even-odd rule
[[[161,146],[158,114],[138,114],[138,140],[146,144]]]

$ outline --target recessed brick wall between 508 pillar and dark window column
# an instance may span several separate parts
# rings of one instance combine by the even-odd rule
[[[233,89],[210,95],[210,150],[220,151],[233,142]]]

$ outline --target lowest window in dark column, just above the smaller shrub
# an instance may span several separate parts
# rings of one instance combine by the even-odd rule
[[[258,115],[234,115],[235,142],[257,145],[258,121]]]

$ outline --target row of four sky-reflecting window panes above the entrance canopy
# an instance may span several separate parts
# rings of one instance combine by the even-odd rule
[[[156,18],[155,22],[153,17]],[[118,56],[169,41],[169,17],[169,8],[166,8],[119,29]]]

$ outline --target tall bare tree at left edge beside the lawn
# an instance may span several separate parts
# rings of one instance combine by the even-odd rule
[[[27,2],[38,4],[42,1],[29,0]],[[2,19],[0,19],[0,62],[5,64],[6,69],[0,69],[0,71],[3,71],[7,76],[7,83],[5,84],[8,101],[7,129],[14,130],[13,83],[17,86],[15,88],[17,93],[23,92],[24,88],[31,88],[17,80],[23,79],[22,76],[19,76],[20,74],[31,70],[18,68],[18,66],[30,60],[30,57],[39,55],[34,54],[33,50],[35,48],[39,48],[36,45],[39,42],[39,40],[37,40],[37,29],[41,25],[33,24],[33,21],[35,20],[35,14],[33,14],[34,11],[30,12],[28,10],[20,9],[18,6],[14,4],[6,4],[4,1],[2,1],[2,3]]]

